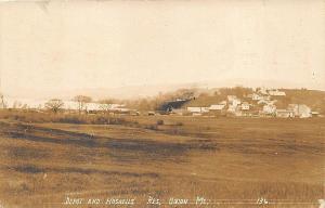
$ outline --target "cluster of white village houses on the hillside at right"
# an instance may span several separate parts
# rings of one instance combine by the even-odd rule
[[[199,115],[232,115],[248,117],[282,117],[282,118],[309,118],[318,116],[317,112],[306,104],[288,104],[285,108],[276,106],[277,100],[286,96],[284,91],[259,89],[252,94],[243,96],[227,95],[226,100],[210,106],[191,106],[183,109],[173,109],[176,114]]]

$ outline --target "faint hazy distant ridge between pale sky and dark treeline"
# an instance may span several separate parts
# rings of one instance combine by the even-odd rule
[[[230,83],[231,81],[225,81]],[[62,99],[64,101],[73,100],[76,95],[82,94],[91,96],[94,101],[105,100],[105,99],[120,99],[120,100],[134,100],[144,98],[154,98],[160,93],[170,93],[180,89],[196,89],[196,90],[216,90],[221,88],[268,88],[268,89],[302,89],[303,87],[289,84],[290,87],[283,88],[281,83],[272,82],[273,84],[268,84],[266,82],[260,82],[259,84],[246,84],[247,82],[238,82],[238,80],[233,80],[232,83],[225,84],[213,84],[213,82],[188,82],[188,83],[174,83],[174,84],[150,84],[150,86],[125,86],[120,88],[87,88],[87,89],[70,89],[67,91],[25,91],[24,93],[17,94],[4,94],[4,99],[11,100],[30,100],[30,101],[46,101],[50,99]],[[269,82],[270,83],[270,82]],[[310,89],[308,90],[317,90]],[[324,91],[324,90],[321,90]],[[325,92],[325,91],[324,91]],[[37,93],[37,96],[35,95]]]

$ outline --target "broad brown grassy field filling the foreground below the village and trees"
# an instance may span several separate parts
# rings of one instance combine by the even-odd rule
[[[306,208],[325,198],[324,118],[122,121],[2,118],[0,207],[128,207],[105,203],[132,198],[129,207],[158,207],[146,205],[154,197],[160,207]],[[67,197],[83,200],[65,205]],[[192,204],[168,205],[171,197]],[[209,205],[195,205],[196,197]],[[89,205],[89,198],[100,204]],[[258,198],[269,204],[257,205]]]

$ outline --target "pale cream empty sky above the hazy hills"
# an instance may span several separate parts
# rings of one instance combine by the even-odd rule
[[[325,90],[325,1],[0,3],[1,91],[202,82]]]

